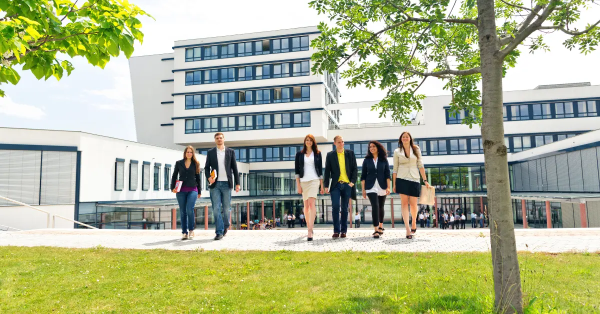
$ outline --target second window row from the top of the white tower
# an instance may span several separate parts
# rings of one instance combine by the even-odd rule
[[[185,72],[185,85],[276,79],[278,77],[305,76],[309,74],[310,65],[308,61],[248,65],[246,67]]]

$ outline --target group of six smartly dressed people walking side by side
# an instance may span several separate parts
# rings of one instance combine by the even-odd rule
[[[229,228],[231,212],[231,190],[235,186],[239,192],[238,166],[235,152],[225,146],[223,133],[215,133],[216,147],[206,153],[204,174],[209,182],[211,193],[212,214],[215,219],[215,240],[221,240]],[[371,203],[373,215],[373,237],[383,235],[383,217],[387,196],[394,191],[400,194],[402,217],[409,222],[409,205],[412,217],[417,217],[417,198],[421,193],[420,177],[425,186],[429,187],[425,176],[425,168],[421,159],[421,149],[413,143],[409,132],[404,131],[398,139],[400,146],[394,151],[394,167],[389,170],[388,152],[384,146],[371,140],[368,152],[362,162],[362,197]],[[334,137],[335,150],[325,157],[325,175],[323,174],[323,157],[317,141],[312,134],[304,137],[302,150],[295,156],[295,178],[298,193],[304,201],[302,225],[308,229],[307,240],[313,241],[313,227],[316,218],[317,194],[331,195],[332,220],[334,233],[332,238],[346,238],[349,201],[356,201],[356,180],[358,180],[358,165],[356,156],[350,149],[344,149],[344,139]],[[176,189],[176,181],[181,181],[181,190]],[[194,238],[194,206],[200,198],[200,164],[196,160],[194,148],[187,146],[184,159],[175,163],[171,179],[171,190],[176,193],[181,213],[182,240]],[[290,213],[284,220],[292,223],[295,217]],[[416,232],[416,219],[405,224],[406,238],[412,239]]]

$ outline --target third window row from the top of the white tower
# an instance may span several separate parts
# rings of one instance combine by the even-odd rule
[[[210,94],[185,95],[185,109],[200,109],[247,104],[289,103],[309,101],[310,86],[257,89],[253,91],[213,92]]]

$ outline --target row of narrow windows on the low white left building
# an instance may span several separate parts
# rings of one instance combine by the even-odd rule
[[[160,190],[160,168],[161,164],[154,164],[154,170],[152,172],[153,188],[155,191]],[[137,162],[132,160],[129,164],[129,190],[136,191],[138,187],[138,174],[139,169]],[[171,175],[171,168],[164,167],[164,190],[169,190],[169,180]],[[122,191],[125,189],[125,162],[115,162],[115,191]],[[142,165],[142,190],[148,191],[150,189],[150,165],[149,163],[143,163]]]

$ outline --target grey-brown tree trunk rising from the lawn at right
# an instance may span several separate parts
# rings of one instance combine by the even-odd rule
[[[500,43],[496,35],[494,1],[478,0],[477,9],[482,77],[481,136],[494,267],[494,305],[499,313],[523,313],[508,159],[504,144],[502,59],[496,55],[500,50]]]

